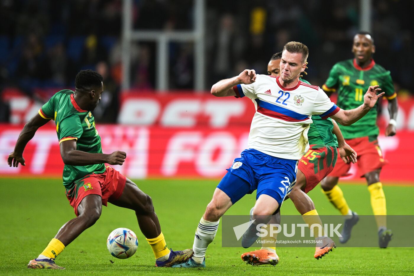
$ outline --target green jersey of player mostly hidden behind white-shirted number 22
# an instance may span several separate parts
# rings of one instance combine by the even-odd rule
[[[307,83],[310,83],[306,80],[299,80]],[[313,148],[323,148],[325,145],[330,147],[338,147],[338,140],[335,134],[332,133],[334,124],[332,119],[322,119],[319,115],[312,116],[313,123],[310,124],[308,130],[308,141],[309,145],[315,145]]]

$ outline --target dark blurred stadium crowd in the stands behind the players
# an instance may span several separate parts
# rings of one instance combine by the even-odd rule
[[[372,2],[375,61],[391,71],[400,96],[412,94],[414,1]],[[135,29],[189,30],[193,0],[134,0],[133,17]],[[108,91],[101,115],[112,121],[122,79],[121,20],[122,0],[0,1],[0,90],[17,87],[34,97],[39,89],[73,89],[77,71],[94,69]],[[352,58],[358,26],[359,0],[207,0],[205,88],[244,68],[265,74],[270,56],[291,40],[310,48],[306,79],[322,86],[333,64]],[[132,46],[133,89],[154,89],[155,50],[155,43]],[[171,43],[169,51],[170,89],[191,90],[193,44]]]

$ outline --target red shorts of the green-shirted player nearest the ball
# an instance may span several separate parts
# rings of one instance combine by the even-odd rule
[[[107,206],[108,201],[118,199],[125,187],[126,177],[116,169],[106,166],[103,174],[89,174],[82,179],[75,181],[73,189],[77,190],[66,192],[66,197],[70,206],[75,209],[78,216],[77,207],[82,199],[89,194],[97,194],[102,198],[102,204]]]

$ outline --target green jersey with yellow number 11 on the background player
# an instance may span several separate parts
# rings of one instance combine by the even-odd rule
[[[363,104],[363,95],[371,85],[379,85],[382,89],[381,92],[385,92],[387,99],[393,99],[397,96],[394,92],[390,71],[376,64],[374,60],[371,60],[371,64],[366,68],[361,68],[355,59],[336,63],[323,85],[323,90],[337,91],[337,106],[347,110]],[[373,107],[351,126],[339,125],[339,128],[345,139],[378,136],[377,108]]]

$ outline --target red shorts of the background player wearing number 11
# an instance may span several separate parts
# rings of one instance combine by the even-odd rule
[[[373,172],[382,168],[388,163],[384,160],[383,153],[378,145],[378,140],[366,137],[345,139],[347,144],[356,151],[356,165],[358,165],[358,173],[363,177],[368,172]],[[331,172],[330,176],[344,177],[350,175],[349,169],[351,163],[345,163],[339,158],[335,169]]]

